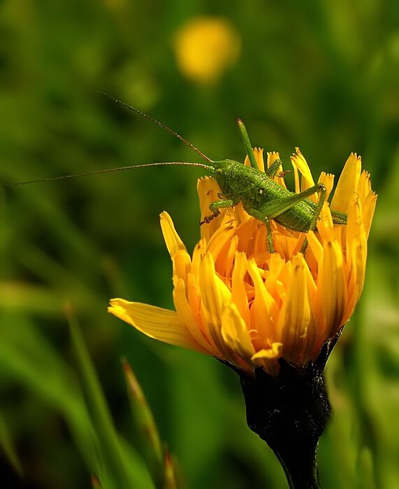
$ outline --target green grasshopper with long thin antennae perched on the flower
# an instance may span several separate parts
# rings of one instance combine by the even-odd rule
[[[103,94],[103,92],[100,92]],[[106,94],[103,94],[106,95]],[[281,185],[279,185],[274,177],[282,176],[286,172],[280,173],[280,166],[282,162],[280,159],[274,161],[274,163],[264,173],[261,172],[256,164],[254,152],[252,151],[252,145],[249,141],[249,136],[245,125],[241,119],[238,119],[238,128],[242,136],[242,142],[244,143],[245,151],[247,152],[249,162],[251,166],[245,166],[243,163],[234,161],[231,159],[224,159],[220,161],[213,161],[208,156],[203,154],[198,148],[182,138],[179,134],[173,131],[171,128],[157,121],[150,115],[141,112],[140,110],[127,105],[126,103],[119,101],[115,98],[111,98],[116,103],[123,105],[124,107],[133,110],[134,112],[150,119],[155,124],[166,129],[172,133],[173,136],[179,138],[184,144],[188,145],[197,154],[201,156],[205,161],[204,163],[191,163],[187,161],[170,161],[160,163],[147,163],[140,165],[123,166],[119,168],[110,168],[107,170],[99,170],[89,173],[80,173],[77,175],[64,175],[61,177],[45,178],[43,180],[31,180],[29,182],[17,182],[15,184],[3,184],[1,187],[15,187],[17,185],[33,184],[38,182],[49,182],[54,180],[64,180],[66,178],[85,177],[89,175],[98,175],[99,173],[110,173],[114,171],[130,170],[131,168],[143,168],[144,166],[161,166],[161,165],[184,165],[184,166],[200,166],[206,168],[212,177],[215,178],[219,184],[222,194],[219,194],[220,200],[212,202],[209,206],[212,214],[206,216],[201,225],[208,224],[212,219],[219,216],[221,209],[227,207],[233,207],[238,203],[242,203],[247,213],[262,223],[266,224],[267,229],[267,242],[268,250],[270,253],[274,253],[273,247],[273,235],[270,228],[270,219],[275,220],[285,228],[292,231],[300,231],[307,233],[307,231],[316,228],[317,220],[319,219],[321,208],[326,200],[326,187],[323,184],[316,184],[309,189],[306,189],[299,194],[291,192]],[[277,173],[278,172],[278,173]],[[319,200],[315,203],[310,200],[310,196],[313,194],[319,194]],[[344,212],[338,212],[331,210],[331,216],[333,217],[334,224],[347,224],[347,214]],[[305,253],[307,248],[307,238],[305,238],[301,252]]]

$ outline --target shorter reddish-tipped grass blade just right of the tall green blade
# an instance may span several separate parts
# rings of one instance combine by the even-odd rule
[[[151,409],[147,404],[140,384],[126,358],[122,358],[122,367],[131,404],[133,423],[138,432],[140,448],[143,451],[151,474],[155,475],[155,482],[161,483],[164,472],[164,456],[154,416],[152,416]]]

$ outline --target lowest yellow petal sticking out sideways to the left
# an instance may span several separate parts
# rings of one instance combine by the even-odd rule
[[[108,312],[155,340],[203,352],[175,311],[141,302],[111,299]]]

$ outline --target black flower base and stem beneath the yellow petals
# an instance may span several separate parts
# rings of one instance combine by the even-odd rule
[[[240,375],[248,426],[272,448],[291,489],[319,488],[317,444],[331,415],[324,367],[338,336],[305,367],[280,359],[277,377],[262,367],[253,374],[234,367]]]

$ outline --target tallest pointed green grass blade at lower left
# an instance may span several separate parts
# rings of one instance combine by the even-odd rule
[[[71,328],[73,345],[78,357],[82,381],[87,394],[89,411],[92,414],[94,429],[99,440],[100,459],[106,466],[101,467],[101,469],[105,468],[105,473],[110,476],[111,487],[117,489],[153,488],[150,475],[145,470],[144,465],[140,464],[138,458],[135,460],[132,457],[131,451],[128,452],[122,449],[119,435],[115,430],[80,328],[70,307],[66,308],[66,313],[69,327]],[[106,481],[101,480],[101,484],[108,489]]]

